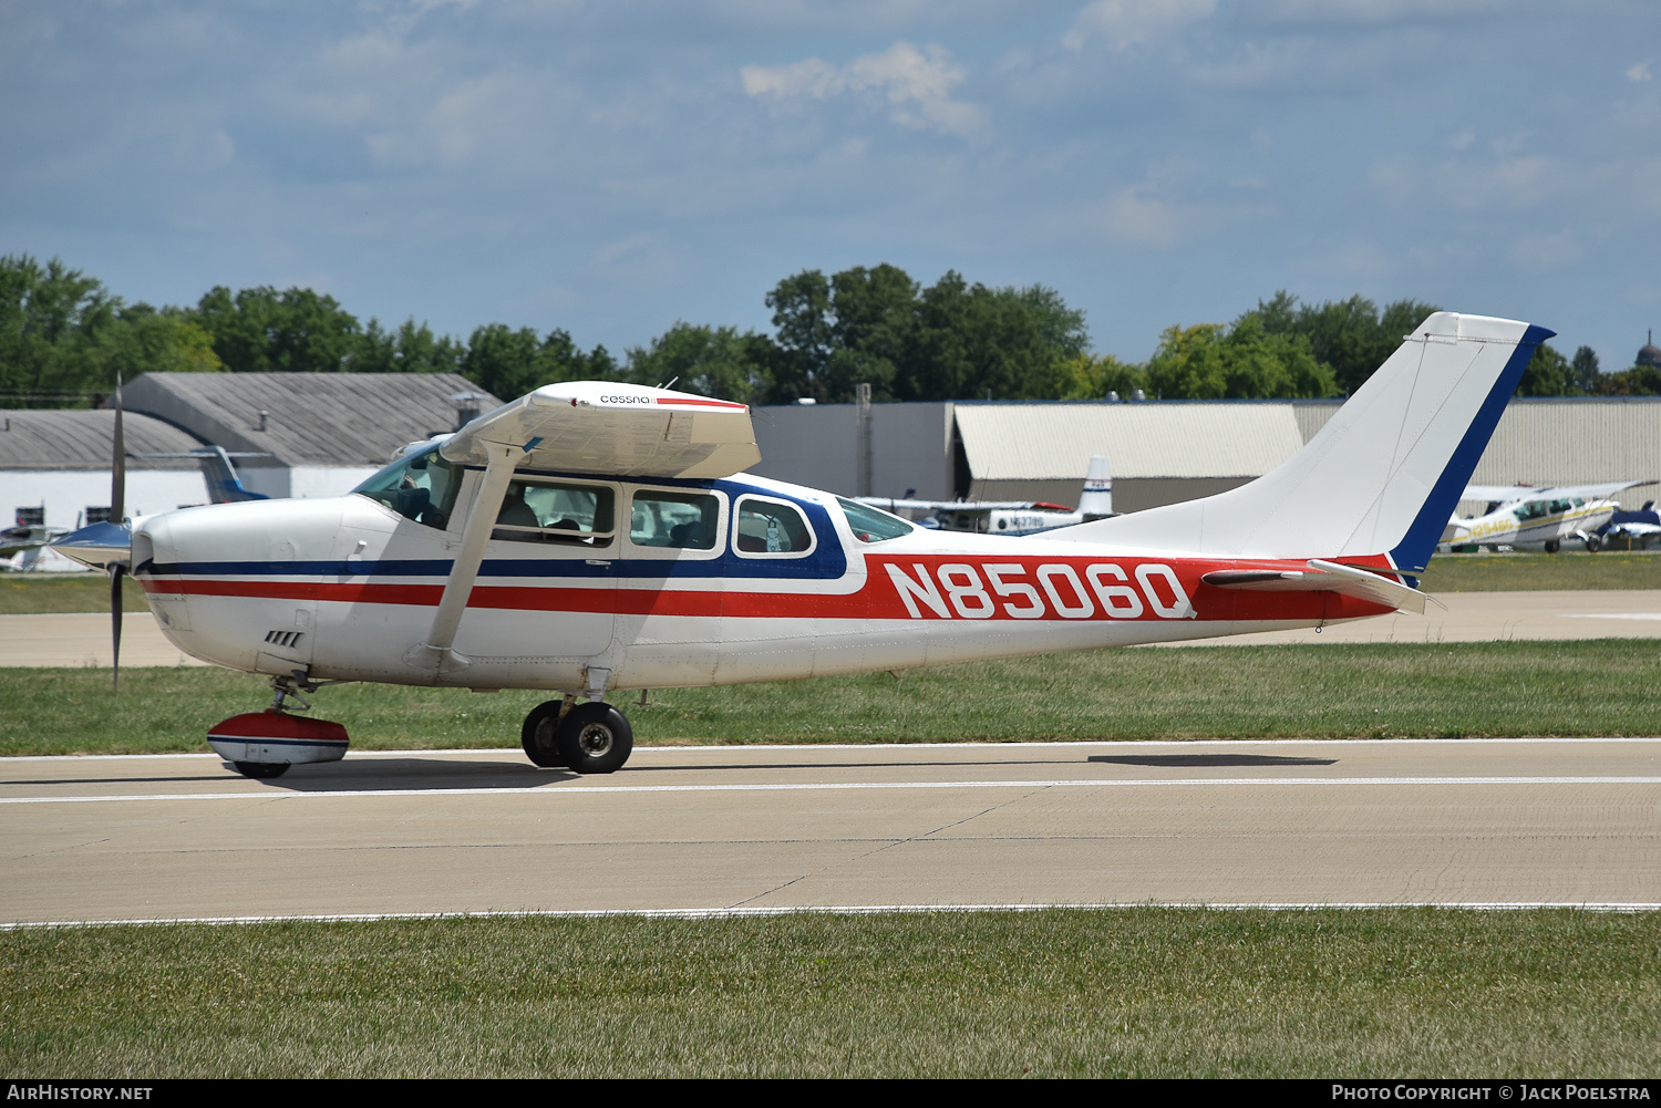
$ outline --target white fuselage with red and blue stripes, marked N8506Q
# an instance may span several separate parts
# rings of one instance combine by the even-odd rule
[[[472,470],[465,482],[478,477]],[[568,691],[595,688],[596,674],[601,688],[769,681],[1314,626],[1389,610],[1332,593],[1239,593],[1199,581],[1211,570],[1257,565],[1229,558],[1115,556],[1041,537],[925,530],[862,542],[835,497],[744,475],[566,480],[635,505],[621,510],[633,527],[606,540],[492,538],[455,636],[460,664],[434,668],[412,656],[455,560],[460,518],[417,522],[355,493],[188,508],[136,528],[135,576],[168,638],[223,666],[301,669],[312,681]],[[639,505],[688,490],[718,503],[718,538],[703,550],[653,545],[663,540]],[[463,483],[458,502],[468,498]],[[792,507],[811,533],[797,537],[797,550],[769,550],[779,543],[744,532],[757,505]]]

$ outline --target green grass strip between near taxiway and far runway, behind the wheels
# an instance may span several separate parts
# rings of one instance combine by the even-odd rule
[[[1477,738],[1661,734],[1661,645],[1395,643],[1108,650],[889,674],[615,693],[636,741]],[[321,689],[359,749],[518,744],[541,693]],[[0,669],[0,754],[201,751],[208,726],[269,703],[224,669]]]

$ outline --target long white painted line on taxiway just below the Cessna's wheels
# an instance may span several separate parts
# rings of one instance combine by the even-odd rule
[[[869,789],[1121,789],[1171,786],[1560,786],[1661,784],[1661,777],[1131,777],[1106,781],[814,781],[797,784],[537,786],[527,789],[339,789],[317,792],[130,792],[113,796],[8,796],[0,804],[101,804],[130,801],[327,801],[382,796],[593,796],[598,792],[837,792]]]

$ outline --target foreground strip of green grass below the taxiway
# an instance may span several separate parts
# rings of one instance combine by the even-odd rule
[[[447,919],[0,934],[0,1071],[1653,1076],[1661,917]]]

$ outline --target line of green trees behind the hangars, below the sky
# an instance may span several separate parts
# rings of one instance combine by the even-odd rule
[[[425,322],[360,322],[332,296],[218,286],[194,306],[126,304],[53,259],[0,257],[0,407],[78,407],[151,370],[445,372],[498,397],[558,380],[630,380],[746,404],[852,400],[1286,399],[1354,392],[1437,311],[1322,304],[1281,291],[1227,324],[1173,326],[1146,362],[1093,354],[1085,314],[1041,284],[932,286],[897,266],[806,269],[767,294],[772,334],[676,322],[621,357],[563,329],[492,322],[467,341]],[[1541,346],[1520,395],[1661,394],[1661,370],[1603,374],[1598,355]]]

